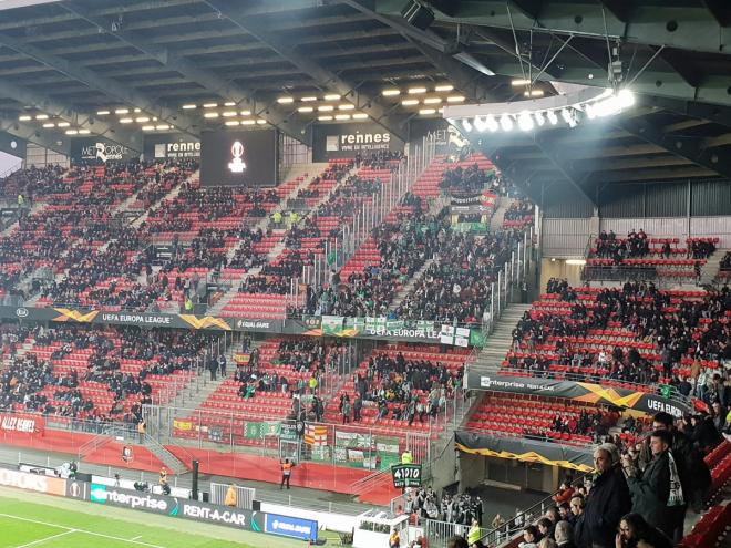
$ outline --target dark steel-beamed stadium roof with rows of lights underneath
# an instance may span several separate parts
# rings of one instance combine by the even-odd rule
[[[25,3],[0,11],[0,128],[40,144],[257,122],[307,141],[320,121],[366,118],[405,136],[410,118],[446,104],[607,85],[611,59],[640,95],[611,131],[509,136],[486,152],[524,177],[579,186],[587,173],[731,174],[731,8],[720,0],[10,2]]]

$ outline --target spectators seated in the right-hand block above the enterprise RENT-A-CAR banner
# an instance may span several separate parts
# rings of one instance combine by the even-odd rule
[[[627,282],[621,289],[603,289],[595,300],[588,302],[579,300],[566,280],[550,279],[547,291],[558,294],[564,302],[572,302],[570,313],[566,316],[543,309],[527,311],[513,331],[513,348],[526,349],[532,354],[518,356],[512,353],[508,358],[511,368],[549,375],[548,365],[557,354],[558,364],[575,369],[594,368],[593,374],[597,376],[641,384],[657,383],[665,378],[679,386],[682,360],[690,358],[693,365],[689,376],[699,386],[708,362],[718,368],[731,360],[731,328],[724,321],[731,300],[728,288],[710,291],[700,300],[678,303],[671,303],[668,292],[644,282]],[[700,320],[703,320],[702,325]],[[587,337],[589,330],[606,330],[610,322],[618,322],[621,329],[635,333],[637,340],[652,343],[653,353],[641,353],[636,345],[624,349],[611,342],[607,342],[604,349],[590,350],[568,341],[569,337]],[[549,337],[557,338],[553,341],[550,360],[542,356],[540,351],[536,353]],[[659,363],[656,355],[659,355]],[[581,374],[574,373],[574,376]],[[688,386],[682,390],[690,392]]]

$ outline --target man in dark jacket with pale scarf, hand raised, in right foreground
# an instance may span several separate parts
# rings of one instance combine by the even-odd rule
[[[673,538],[676,529],[682,527],[686,505],[680,475],[670,454],[671,444],[670,432],[656,430],[650,435],[652,461],[641,475],[629,457],[624,459],[622,467],[632,495],[632,511]]]

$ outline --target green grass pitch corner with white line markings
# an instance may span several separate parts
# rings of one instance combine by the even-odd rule
[[[254,548],[145,525],[145,514],[133,524],[4,497],[0,497],[0,548]]]

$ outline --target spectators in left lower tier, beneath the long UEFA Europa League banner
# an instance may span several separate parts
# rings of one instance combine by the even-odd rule
[[[9,366],[0,374],[0,409],[21,406],[47,415],[73,416],[91,421],[124,420],[135,422],[128,396],[138,395],[140,403],[152,403],[148,375],[171,375],[194,369],[206,355],[210,335],[202,332],[143,330],[135,327],[89,329],[84,327],[20,327],[3,331],[3,348],[8,349]],[[24,342],[55,350],[50,359],[35,353],[18,354]],[[83,373],[55,371],[55,362],[84,353]],[[136,373],[123,372],[122,361],[145,362]],[[109,409],[95,405],[93,396],[84,396],[84,383],[105,385],[113,399]],[[47,389],[51,389],[50,391]]]

